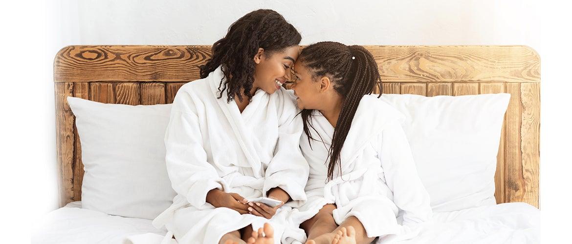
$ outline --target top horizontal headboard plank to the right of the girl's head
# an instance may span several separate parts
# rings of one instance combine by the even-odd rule
[[[386,82],[540,82],[527,46],[364,46]]]

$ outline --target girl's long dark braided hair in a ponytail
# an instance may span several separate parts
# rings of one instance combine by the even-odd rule
[[[376,86],[379,94],[382,94],[378,66],[374,57],[364,47],[346,46],[338,42],[318,42],[307,46],[298,59],[312,74],[312,80],[327,76],[332,81],[333,89],[343,98],[340,115],[333,131],[332,145],[328,150],[329,181],[333,179],[334,167],[337,165],[341,169],[341,147],[344,145],[360,100],[364,95],[371,94]],[[302,110],[301,116],[308,142],[317,141],[312,138],[309,130],[311,127],[316,131],[311,124],[312,110]]]

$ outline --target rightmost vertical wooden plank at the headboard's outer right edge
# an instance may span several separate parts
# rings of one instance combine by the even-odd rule
[[[522,200],[539,207],[540,86],[538,83],[521,83],[521,102],[522,177],[525,185]]]

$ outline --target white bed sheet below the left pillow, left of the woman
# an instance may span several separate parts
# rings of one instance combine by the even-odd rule
[[[149,219],[125,218],[81,209],[81,202],[68,203],[34,223],[32,243],[122,243],[130,235],[165,235]]]

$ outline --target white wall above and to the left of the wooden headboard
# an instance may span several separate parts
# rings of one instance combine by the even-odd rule
[[[43,2],[43,1],[42,1]],[[44,3],[46,4],[46,3]],[[25,7],[25,6],[22,6]],[[154,1],[62,0],[47,5],[35,29],[47,39],[30,83],[29,111],[14,108],[33,128],[27,155],[33,173],[32,217],[58,205],[51,61],[66,45],[210,45],[251,10],[274,9],[302,34],[302,43],[339,41],[359,45],[528,45],[541,51],[538,2],[464,1]],[[9,10],[7,10],[9,11]],[[37,10],[42,13],[42,10]],[[6,19],[10,21],[10,19]],[[31,26],[31,25],[30,25]],[[22,30],[26,31],[26,30]],[[38,43],[29,34],[30,43]],[[19,45],[15,36],[14,45]],[[541,53],[542,54],[542,53]],[[14,99],[17,94],[13,94]],[[10,100],[6,100],[10,101]],[[16,101],[16,100],[12,100]],[[14,137],[21,137],[13,131]],[[30,148],[29,147],[29,148]],[[22,160],[22,149],[13,159]],[[27,169],[29,170],[29,169]]]

